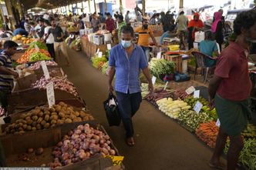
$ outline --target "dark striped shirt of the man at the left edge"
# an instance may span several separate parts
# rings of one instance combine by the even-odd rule
[[[5,51],[0,54],[0,66],[12,69],[11,56],[5,54]],[[12,91],[13,75],[5,75],[0,73],[0,90]]]

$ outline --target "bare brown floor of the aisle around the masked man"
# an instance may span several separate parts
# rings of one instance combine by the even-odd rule
[[[110,128],[106,122],[103,101],[108,95],[107,77],[93,68],[82,52],[69,51],[69,57],[71,66],[62,64],[64,72],[78,88],[93,116],[106,128],[120,155],[124,156],[126,169],[211,169],[207,162],[212,150],[147,101],[142,102],[140,111],[133,117],[136,145],[128,147],[123,126]]]

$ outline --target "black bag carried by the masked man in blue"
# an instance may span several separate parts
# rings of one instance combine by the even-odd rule
[[[109,98],[107,98],[106,101],[103,102],[103,106],[106,112],[106,118],[109,122],[109,126],[119,126],[121,122],[121,117],[116,101],[116,96],[110,92]]]

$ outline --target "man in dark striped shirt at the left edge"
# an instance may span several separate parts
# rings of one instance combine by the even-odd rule
[[[15,54],[18,45],[12,41],[4,43],[4,51],[0,54],[0,104],[7,108],[8,95],[12,92],[13,78],[18,78],[19,74],[12,68],[12,55]]]

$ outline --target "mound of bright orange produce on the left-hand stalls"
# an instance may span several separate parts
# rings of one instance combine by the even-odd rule
[[[17,62],[19,64],[23,64],[26,62],[33,62],[32,60],[35,59],[36,55],[33,55],[34,53],[41,53],[43,54],[44,58],[46,58],[46,60],[50,60],[51,59],[51,55],[49,54],[49,52],[45,49],[39,49],[39,51],[35,48],[31,48],[28,49],[24,55],[22,55],[21,58],[18,58]]]

